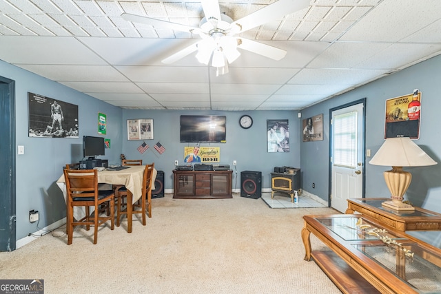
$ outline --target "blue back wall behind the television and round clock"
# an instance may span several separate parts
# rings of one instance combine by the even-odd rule
[[[253,125],[249,129],[239,126],[239,118],[243,114],[253,118]],[[271,188],[270,173],[277,166],[300,167],[300,140],[296,136],[300,128],[300,119],[297,112],[291,111],[256,111],[256,112],[218,112],[218,111],[176,111],[176,110],[123,110],[123,121],[134,118],[152,118],[154,140],[145,140],[150,146],[144,154],[136,150],[142,140],[126,140],[127,129],[124,129],[123,154],[126,158],[143,159],[143,162],[155,162],[155,168],[165,172],[165,189],[172,189],[174,160],[184,164],[184,147],[194,144],[180,143],[179,118],[181,114],[210,114],[227,116],[227,143],[201,144],[202,147],[220,147],[220,163],[233,168],[233,160],[237,161],[237,174],[233,174],[233,189],[240,189],[240,171],[261,171],[263,188]],[[267,119],[288,119],[289,131],[294,134],[290,138],[290,152],[267,152]],[[127,125],[127,123],[125,123]],[[154,145],[160,142],[165,152],[160,155],[154,150]]]

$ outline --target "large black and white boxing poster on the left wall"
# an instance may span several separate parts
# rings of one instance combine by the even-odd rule
[[[28,92],[28,136],[79,138],[78,105]]]

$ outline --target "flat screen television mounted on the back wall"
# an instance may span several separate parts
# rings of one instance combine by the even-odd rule
[[[181,116],[182,143],[226,143],[226,116]]]

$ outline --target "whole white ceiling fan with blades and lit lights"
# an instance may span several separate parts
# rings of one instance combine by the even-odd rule
[[[278,0],[242,19],[233,21],[226,14],[220,13],[218,0],[202,0],[201,4],[205,17],[199,23],[199,28],[129,13],[123,13],[121,17],[126,21],[144,23],[156,28],[169,28],[199,34],[202,40],[163,59],[162,63],[174,63],[198,51],[196,58],[199,62],[208,65],[211,59],[212,66],[217,67],[217,74],[219,74],[219,68],[222,69],[220,74],[226,74],[228,72],[228,63],[232,63],[240,56],[240,52],[237,48],[254,52],[274,60],[283,59],[287,53],[285,50],[245,39],[236,36],[236,34],[251,30],[279,17],[307,8],[309,1],[310,0]]]

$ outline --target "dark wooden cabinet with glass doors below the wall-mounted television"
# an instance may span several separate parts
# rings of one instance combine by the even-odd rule
[[[233,171],[173,171],[173,198],[232,198]]]

